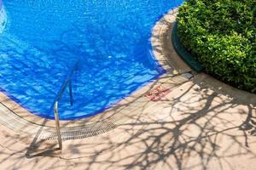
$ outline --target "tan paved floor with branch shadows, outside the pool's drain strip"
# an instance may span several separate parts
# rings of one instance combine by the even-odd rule
[[[3,169],[255,169],[256,95],[205,74],[96,137],[28,147],[1,133]],[[38,145],[44,145],[40,141]],[[49,150],[52,148],[52,150]],[[48,152],[47,152],[48,151]]]

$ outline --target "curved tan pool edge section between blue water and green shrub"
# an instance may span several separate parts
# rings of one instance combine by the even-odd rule
[[[155,23],[150,39],[154,58],[164,70],[173,76],[191,71],[189,66],[177,55],[172,45],[170,32],[172,32],[173,24],[176,21],[177,11],[178,8],[170,10]]]

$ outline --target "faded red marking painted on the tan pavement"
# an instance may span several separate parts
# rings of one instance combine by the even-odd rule
[[[165,97],[166,94],[169,94],[170,92],[171,92],[170,88],[159,86],[151,90],[148,94],[145,95],[145,97],[150,99],[151,101],[159,101],[160,99]]]

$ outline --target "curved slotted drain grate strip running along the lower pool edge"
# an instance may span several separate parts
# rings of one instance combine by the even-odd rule
[[[182,85],[184,82],[189,81],[193,75],[190,72],[183,73],[168,78],[171,78],[175,83],[169,84],[170,90],[174,90]],[[137,116],[138,112],[142,112],[148,102],[152,102],[145,97],[144,94],[131,103],[125,105],[118,105],[119,107],[114,111],[111,116],[98,122],[80,125],[78,127],[61,127],[61,139],[84,139],[93,137],[102,133],[107,133],[125,122]],[[18,133],[19,136],[26,138],[38,138],[43,140],[56,140],[57,133],[55,127],[44,127],[32,122],[27,122],[25,119],[16,115],[13,111],[9,110],[7,106],[0,104],[0,123],[8,127],[12,131]]]

